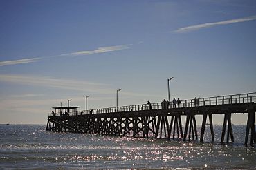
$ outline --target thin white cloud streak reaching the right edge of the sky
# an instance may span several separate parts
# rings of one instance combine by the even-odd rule
[[[214,27],[217,25],[228,25],[231,23],[241,23],[241,22],[246,22],[246,21],[252,21],[255,19],[256,19],[256,16],[250,16],[250,17],[245,17],[245,18],[240,18],[240,19],[231,19],[231,20],[215,22],[215,23],[203,23],[203,24],[199,24],[199,25],[192,25],[192,26],[188,26],[188,27],[184,27],[184,28],[179,28],[178,30],[175,30],[174,32],[176,32],[176,33],[192,32],[195,30],[200,30],[203,28],[210,28],[210,27]]]

